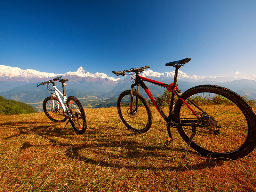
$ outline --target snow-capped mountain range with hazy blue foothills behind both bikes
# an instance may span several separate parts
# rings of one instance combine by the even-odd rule
[[[159,73],[151,69],[143,71],[140,76],[148,77],[164,83],[172,83],[174,71]],[[101,100],[106,98],[117,98],[120,92],[131,89],[131,76],[118,76],[120,78],[108,77],[104,73],[90,73],[82,67],[75,72],[69,71],[64,74],[54,74],[47,72],[40,72],[32,69],[22,70],[20,68],[13,68],[9,66],[0,65],[0,92],[1,96],[6,99],[17,100],[25,103],[33,103],[39,106],[38,103],[49,96],[46,86],[36,87],[36,83],[53,79],[56,76],[63,76],[68,79],[65,87],[68,95],[74,95],[84,101],[85,106],[95,107]],[[238,94],[247,95],[247,98],[256,98],[256,81],[254,80],[236,80],[230,81],[230,77],[219,76],[188,76],[186,73],[179,71],[179,89],[185,91],[190,87],[198,84],[218,84],[236,91]],[[221,83],[225,82],[226,83]],[[208,80],[208,81],[205,81]],[[199,82],[201,81],[201,82]],[[210,82],[209,82],[210,81]],[[217,82],[218,81],[218,82]],[[227,82],[229,81],[229,82]],[[61,86],[57,83],[56,86]],[[164,88],[148,83],[148,88],[154,96],[161,95]],[[59,87],[61,89],[61,87]],[[140,93],[144,97],[148,97],[143,90]],[[116,106],[116,101],[113,102]],[[112,103],[112,104],[113,104]],[[106,104],[106,103],[105,103]],[[114,106],[113,105],[110,106]],[[42,104],[40,103],[40,107]]]

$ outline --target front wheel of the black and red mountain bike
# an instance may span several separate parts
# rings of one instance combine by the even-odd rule
[[[140,93],[133,92],[131,112],[131,91],[122,92],[117,100],[118,114],[124,125],[132,131],[145,133],[152,124],[152,112],[147,100]],[[137,110],[136,110],[137,103]]]

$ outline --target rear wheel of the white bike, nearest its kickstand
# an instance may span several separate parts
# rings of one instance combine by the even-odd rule
[[[87,122],[82,104],[75,96],[69,96],[66,103],[72,115],[70,124],[78,134],[84,133],[87,128]]]

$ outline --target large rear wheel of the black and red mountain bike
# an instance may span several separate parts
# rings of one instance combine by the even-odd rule
[[[190,145],[197,152],[212,158],[238,159],[255,148],[255,112],[237,93],[217,85],[199,85],[184,92],[181,99],[188,103],[200,119],[179,99],[174,109],[175,122],[203,125],[196,127],[196,135]],[[192,135],[191,126],[177,126],[177,129],[188,143]]]

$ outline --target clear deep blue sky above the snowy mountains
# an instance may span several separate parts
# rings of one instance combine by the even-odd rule
[[[0,1],[0,65],[91,73],[191,58],[188,75],[256,75],[256,1]]]

